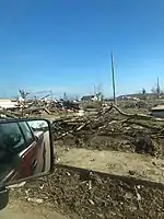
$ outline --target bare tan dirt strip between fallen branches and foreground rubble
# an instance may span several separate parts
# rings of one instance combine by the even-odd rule
[[[58,149],[59,164],[164,183],[164,160],[121,151]]]

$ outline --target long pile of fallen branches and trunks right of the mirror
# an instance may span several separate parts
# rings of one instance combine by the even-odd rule
[[[56,119],[52,130],[56,145],[62,147],[163,155],[164,119],[124,113],[115,105],[94,115]]]

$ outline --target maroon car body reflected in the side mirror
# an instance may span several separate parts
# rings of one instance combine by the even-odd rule
[[[44,131],[34,131],[26,122],[0,124],[1,182],[43,172],[45,153]]]

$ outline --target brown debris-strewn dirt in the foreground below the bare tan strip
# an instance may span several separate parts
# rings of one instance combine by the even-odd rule
[[[164,218],[162,184],[74,168],[58,165],[48,178],[11,194],[20,200],[42,198],[40,208],[47,206],[71,219]]]

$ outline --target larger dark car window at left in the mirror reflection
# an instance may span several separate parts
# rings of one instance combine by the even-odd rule
[[[17,123],[1,124],[0,139],[0,147],[7,150],[19,153],[24,149],[25,140]]]

